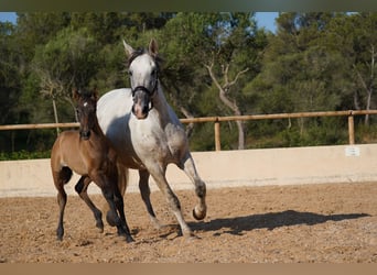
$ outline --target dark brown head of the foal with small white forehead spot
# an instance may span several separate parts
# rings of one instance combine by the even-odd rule
[[[77,101],[76,113],[79,122],[79,136],[84,140],[90,138],[90,132],[97,123],[97,92],[96,91],[73,91]]]

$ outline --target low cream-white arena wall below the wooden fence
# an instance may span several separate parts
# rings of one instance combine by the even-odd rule
[[[194,152],[194,161],[207,188],[377,182],[377,144]],[[170,165],[168,180],[173,189],[193,185]],[[78,176],[65,188],[74,193]],[[128,191],[138,190],[138,175],[130,173]],[[151,180],[151,188],[157,187]],[[91,184],[89,193],[99,189]],[[0,197],[55,196],[50,160],[0,162]]]

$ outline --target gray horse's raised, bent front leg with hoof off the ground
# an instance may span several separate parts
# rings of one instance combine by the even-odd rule
[[[183,158],[182,165],[179,165],[179,167],[181,167],[185,172],[185,174],[190,177],[191,182],[195,186],[195,193],[198,198],[198,204],[193,209],[193,217],[196,220],[203,220],[207,213],[207,206],[205,204],[206,186],[196,172],[194,160],[190,152],[187,152],[185,158]]]

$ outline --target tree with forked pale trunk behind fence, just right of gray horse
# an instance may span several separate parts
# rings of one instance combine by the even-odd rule
[[[204,66],[218,89],[220,101],[234,116],[241,116],[243,106],[240,102],[244,100],[241,100],[243,95],[239,92],[241,87],[237,87],[237,85],[246,74],[249,74],[249,80],[256,76],[258,54],[265,45],[263,43],[256,43],[258,35],[261,34],[257,31],[254,13],[225,13],[220,15],[216,24],[211,28],[215,34],[213,59],[207,61]],[[236,124],[238,150],[243,150],[245,147],[244,122],[236,121]]]

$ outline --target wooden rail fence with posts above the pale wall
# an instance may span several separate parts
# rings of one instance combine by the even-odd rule
[[[228,121],[249,121],[249,120],[271,120],[271,119],[298,119],[298,118],[321,118],[321,117],[347,117],[348,118],[348,143],[355,144],[354,117],[377,114],[377,110],[347,110],[347,111],[323,111],[323,112],[292,112],[292,113],[271,113],[271,114],[248,114],[231,117],[205,117],[181,119],[182,123],[214,123],[215,150],[220,151],[220,122]],[[33,130],[33,129],[54,129],[54,128],[77,128],[77,122],[69,123],[36,123],[36,124],[13,124],[0,125],[0,131],[12,130]]]

